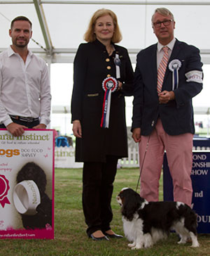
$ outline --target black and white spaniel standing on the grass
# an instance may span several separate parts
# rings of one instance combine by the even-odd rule
[[[123,188],[117,196],[122,207],[125,237],[132,243],[132,249],[149,248],[171,230],[181,237],[179,243],[192,240],[192,247],[199,247],[197,241],[197,217],[186,204],[179,202],[147,202],[132,188]]]

